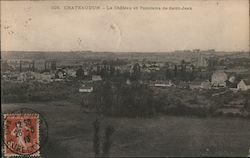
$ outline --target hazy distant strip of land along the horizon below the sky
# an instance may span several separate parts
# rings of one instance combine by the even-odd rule
[[[227,58],[248,58],[249,52],[206,52],[200,53],[205,56],[218,56]],[[181,61],[183,59],[190,60],[197,55],[193,51],[180,52],[92,52],[92,51],[2,51],[2,59],[128,59],[128,60],[159,60],[159,61]]]

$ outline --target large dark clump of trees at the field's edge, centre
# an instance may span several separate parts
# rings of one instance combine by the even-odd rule
[[[94,89],[99,113],[130,117],[147,117],[154,113],[152,91],[146,85],[105,82]]]

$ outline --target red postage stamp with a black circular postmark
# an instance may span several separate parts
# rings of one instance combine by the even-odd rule
[[[39,115],[4,114],[4,155],[40,156]]]

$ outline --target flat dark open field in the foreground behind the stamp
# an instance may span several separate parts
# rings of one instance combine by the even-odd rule
[[[49,126],[44,157],[93,156],[92,122],[95,114],[67,102],[2,104],[4,113],[31,108],[39,111]],[[247,156],[250,121],[238,118],[102,117],[102,129],[114,126],[111,156]],[[102,133],[103,134],[103,133]]]

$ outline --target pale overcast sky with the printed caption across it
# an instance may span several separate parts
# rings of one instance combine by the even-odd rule
[[[63,9],[71,5],[192,10]],[[249,51],[248,0],[5,1],[1,23],[3,51]]]

